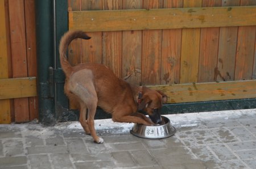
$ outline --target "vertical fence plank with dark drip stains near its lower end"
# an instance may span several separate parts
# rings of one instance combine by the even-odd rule
[[[239,6],[240,0],[226,0],[222,6]],[[234,8],[234,7],[233,7]],[[233,81],[236,64],[238,27],[220,28],[220,40],[218,45],[218,64],[215,70],[215,81]]]

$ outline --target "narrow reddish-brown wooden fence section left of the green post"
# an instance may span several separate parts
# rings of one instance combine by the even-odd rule
[[[0,124],[38,118],[34,0],[0,0]]]

